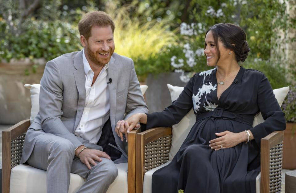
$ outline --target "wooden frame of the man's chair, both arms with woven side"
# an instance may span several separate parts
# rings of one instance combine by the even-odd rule
[[[10,193],[10,170],[19,165],[23,152],[23,141],[30,126],[30,120],[23,120],[2,131],[2,193]],[[128,143],[128,192],[135,193],[136,174],[136,134],[138,130],[129,133]]]

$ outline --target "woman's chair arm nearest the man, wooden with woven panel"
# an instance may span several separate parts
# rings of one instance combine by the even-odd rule
[[[136,192],[143,192],[146,171],[166,163],[171,149],[172,128],[151,128],[136,135]]]

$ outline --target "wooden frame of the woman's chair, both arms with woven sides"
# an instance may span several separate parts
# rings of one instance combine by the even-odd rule
[[[136,193],[143,192],[145,172],[169,159],[172,128],[152,128],[136,134]],[[280,193],[284,131],[261,139],[261,193]],[[152,148],[151,148],[152,147]]]

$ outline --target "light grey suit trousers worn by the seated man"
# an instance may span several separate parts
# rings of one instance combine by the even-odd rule
[[[77,193],[105,193],[118,174],[114,162],[102,157],[102,162],[97,162],[88,170],[74,151],[75,147],[69,140],[42,132],[27,162],[30,166],[47,171],[47,193],[68,193],[70,173],[86,179]]]

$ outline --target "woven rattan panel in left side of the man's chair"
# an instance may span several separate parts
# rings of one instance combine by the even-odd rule
[[[23,133],[23,135],[18,136],[17,138],[11,140],[11,160],[10,165],[11,168],[19,165],[19,161],[23,154],[23,144],[25,140],[26,133]]]

